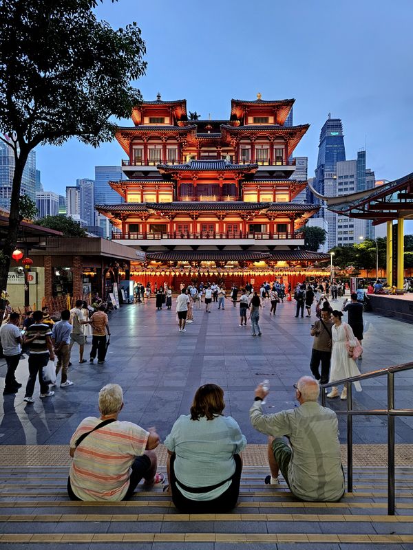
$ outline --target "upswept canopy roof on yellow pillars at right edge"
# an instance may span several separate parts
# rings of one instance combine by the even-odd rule
[[[413,173],[344,197],[324,197],[310,184],[309,187],[315,197],[325,201],[328,210],[336,214],[370,219],[373,225],[387,223],[387,278],[389,283],[394,280],[398,288],[403,288],[404,220],[413,219]],[[393,221],[397,223],[393,225]]]

